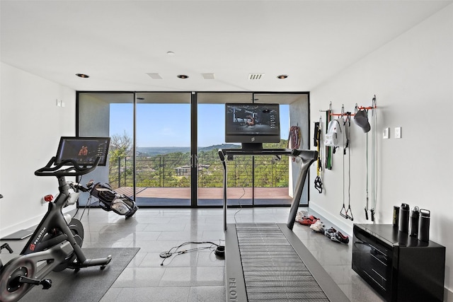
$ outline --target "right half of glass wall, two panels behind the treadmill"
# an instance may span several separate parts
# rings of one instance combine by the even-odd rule
[[[224,141],[225,103],[252,102],[280,105],[280,143],[263,144],[264,148],[287,148],[290,127],[308,133],[308,96],[304,93],[198,93],[198,205],[222,204],[223,167],[217,150],[241,147]],[[301,138],[298,144],[300,148],[309,148],[307,139]],[[299,171],[297,161],[275,156],[234,156],[226,161],[226,166],[230,206],[291,204]],[[308,194],[304,192],[302,204],[307,204]]]

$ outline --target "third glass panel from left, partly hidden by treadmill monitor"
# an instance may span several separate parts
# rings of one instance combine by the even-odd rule
[[[225,143],[225,103],[252,103],[252,93],[197,94],[197,182],[199,206],[223,204],[224,169],[220,148],[239,148]],[[228,204],[251,205],[251,156],[238,156],[226,161],[228,170]]]

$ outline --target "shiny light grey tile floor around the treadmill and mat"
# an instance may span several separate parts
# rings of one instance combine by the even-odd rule
[[[301,209],[319,216],[307,208]],[[287,207],[229,209],[227,222],[286,223],[288,213]],[[213,250],[173,255],[166,258],[164,265],[161,265],[164,258],[159,257],[161,252],[188,241],[224,245],[222,209],[139,209],[127,220],[113,212],[91,209],[81,221],[85,229],[84,248],[140,248],[101,302],[225,301],[224,260],[214,255]],[[326,227],[333,226],[325,219],[322,221]],[[351,301],[383,301],[352,271],[351,243],[335,243],[299,223],[294,224],[293,231]],[[11,244],[17,252],[23,245],[25,240]],[[209,246],[192,244],[184,249]]]

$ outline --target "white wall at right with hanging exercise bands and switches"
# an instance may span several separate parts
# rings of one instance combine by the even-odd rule
[[[311,121],[319,110],[354,112],[355,103],[370,106],[377,95],[379,191],[377,223],[391,223],[394,205],[408,203],[431,211],[430,239],[445,245],[445,286],[453,301],[453,164],[450,158],[453,112],[453,5],[353,64],[311,91]],[[323,120],[325,114],[323,113]],[[390,139],[382,139],[390,127]],[[402,138],[394,138],[402,127]],[[312,129],[312,128],[311,128]],[[313,131],[313,130],[312,130]],[[311,134],[313,136],[313,133]],[[343,204],[342,154],[325,170],[325,192],[311,191],[310,207],[349,234],[365,220],[365,134],[352,122],[351,208],[354,221],[339,215]],[[371,138],[371,134],[370,134]],[[348,172],[346,159],[346,170]],[[316,176],[311,168],[311,184]],[[347,176],[346,176],[347,178]],[[346,179],[346,184],[348,180]],[[348,189],[345,190],[348,207]]]

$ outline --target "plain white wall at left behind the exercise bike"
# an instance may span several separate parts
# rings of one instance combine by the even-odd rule
[[[42,219],[42,197],[58,192],[57,178],[35,170],[57,153],[59,137],[75,134],[74,90],[4,63],[0,94],[0,237]],[[64,107],[57,107],[57,98]]]

